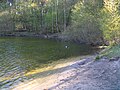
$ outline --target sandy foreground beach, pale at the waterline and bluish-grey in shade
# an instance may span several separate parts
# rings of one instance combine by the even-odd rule
[[[69,63],[57,73],[24,82],[12,90],[120,90],[120,58],[94,57]]]

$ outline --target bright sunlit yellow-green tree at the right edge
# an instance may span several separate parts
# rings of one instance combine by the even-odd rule
[[[119,0],[105,0],[104,8],[101,12],[101,29],[104,38],[112,43],[120,43],[120,14]]]

